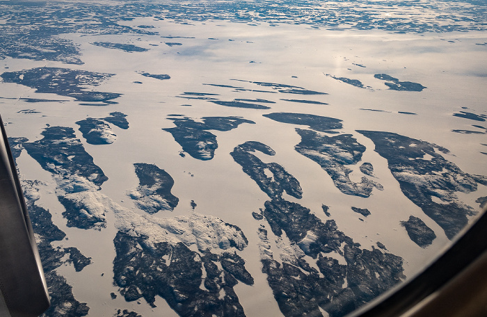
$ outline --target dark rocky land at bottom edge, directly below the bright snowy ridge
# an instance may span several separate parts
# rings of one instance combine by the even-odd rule
[[[127,301],[144,298],[155,307],[155,296],[179,316],[245,316],[233,287],[252,285],[245,261],[234,252],[189,250],[184,243],[150,246],[147,236],[115,236],[115,284]]]

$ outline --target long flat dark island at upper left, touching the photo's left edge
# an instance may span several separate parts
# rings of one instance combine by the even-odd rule
[[[108,103],[122,94],[90,91],[83,86],[98,86],[113,74],[70,70],[57,67],[37,67],[19,72],[4,72],[0,75],[6,83],[35,88],[35,92],[52,93],[72,97],[79,101],[102,101]]]

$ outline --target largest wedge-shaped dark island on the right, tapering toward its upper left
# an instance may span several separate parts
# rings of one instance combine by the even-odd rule
[[[388,160],[388,166],[402,192],[433,219],[449,239],[477,214],[458,199],[456,192],[471,193],[477,183],[487,185],[487,177],[468,174],[435,151],[445,149],[422,140],[384,131],[358,130],[374,142],[375,152]],[[433,200],[441,200],[441,203]]]

